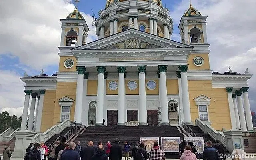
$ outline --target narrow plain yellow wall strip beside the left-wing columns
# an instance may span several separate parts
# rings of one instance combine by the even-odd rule
[[[53,124],[54,117],[54,108],[55,106],[55,96],[56,90],[46,90],[44,94],[44,104],[42,111],[42,120],[41,120],[41,132],[45,132],[49,128],[51,128]]]

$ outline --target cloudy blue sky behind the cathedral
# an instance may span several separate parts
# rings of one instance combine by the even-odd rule
[[[174,21],[172,40],[180,42],[178,24],[189,0],[162,0]],[[104,9],[106,0],[80,0],[78,10],[90,28],[87,42],[97,39],[93,13]],[[256,0],[192,0],[194,8],[208,15],[207,37],[210,66],[217,72],[256,74]],[[58,71],[61,23],[74,10],[71,0],[0,1],[0,111],[20,116],[24,104],[24,83],[20,77],[52,75]],[[256,77],[249,81],[252,111],[256,111]]]

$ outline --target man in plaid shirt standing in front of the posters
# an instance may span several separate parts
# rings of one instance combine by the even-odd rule
[[[149,151],[149,160],[165,160],[165,153],[158,142],[154,142],[154,147]]]

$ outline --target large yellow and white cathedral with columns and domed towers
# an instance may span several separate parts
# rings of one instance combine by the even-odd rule
[[[98,40],[89,43],[78,9],[63,17],[58,71],[21,78],[21,130],[29,108],[28,130],[35,132],[67,119],[86,126],[103,126],[103,120],[106,126],[181,126],[200,119],[215,130],[253,130],[252,74],[210,67],[208,16],[190,4],[176,42],[161,0],[107,0],[98,14]]]

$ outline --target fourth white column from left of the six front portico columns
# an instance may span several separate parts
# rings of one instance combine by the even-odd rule
[[[138,66],[139,72],[139,125],[147,125],[147,106],[146,106],[146,66]]]

